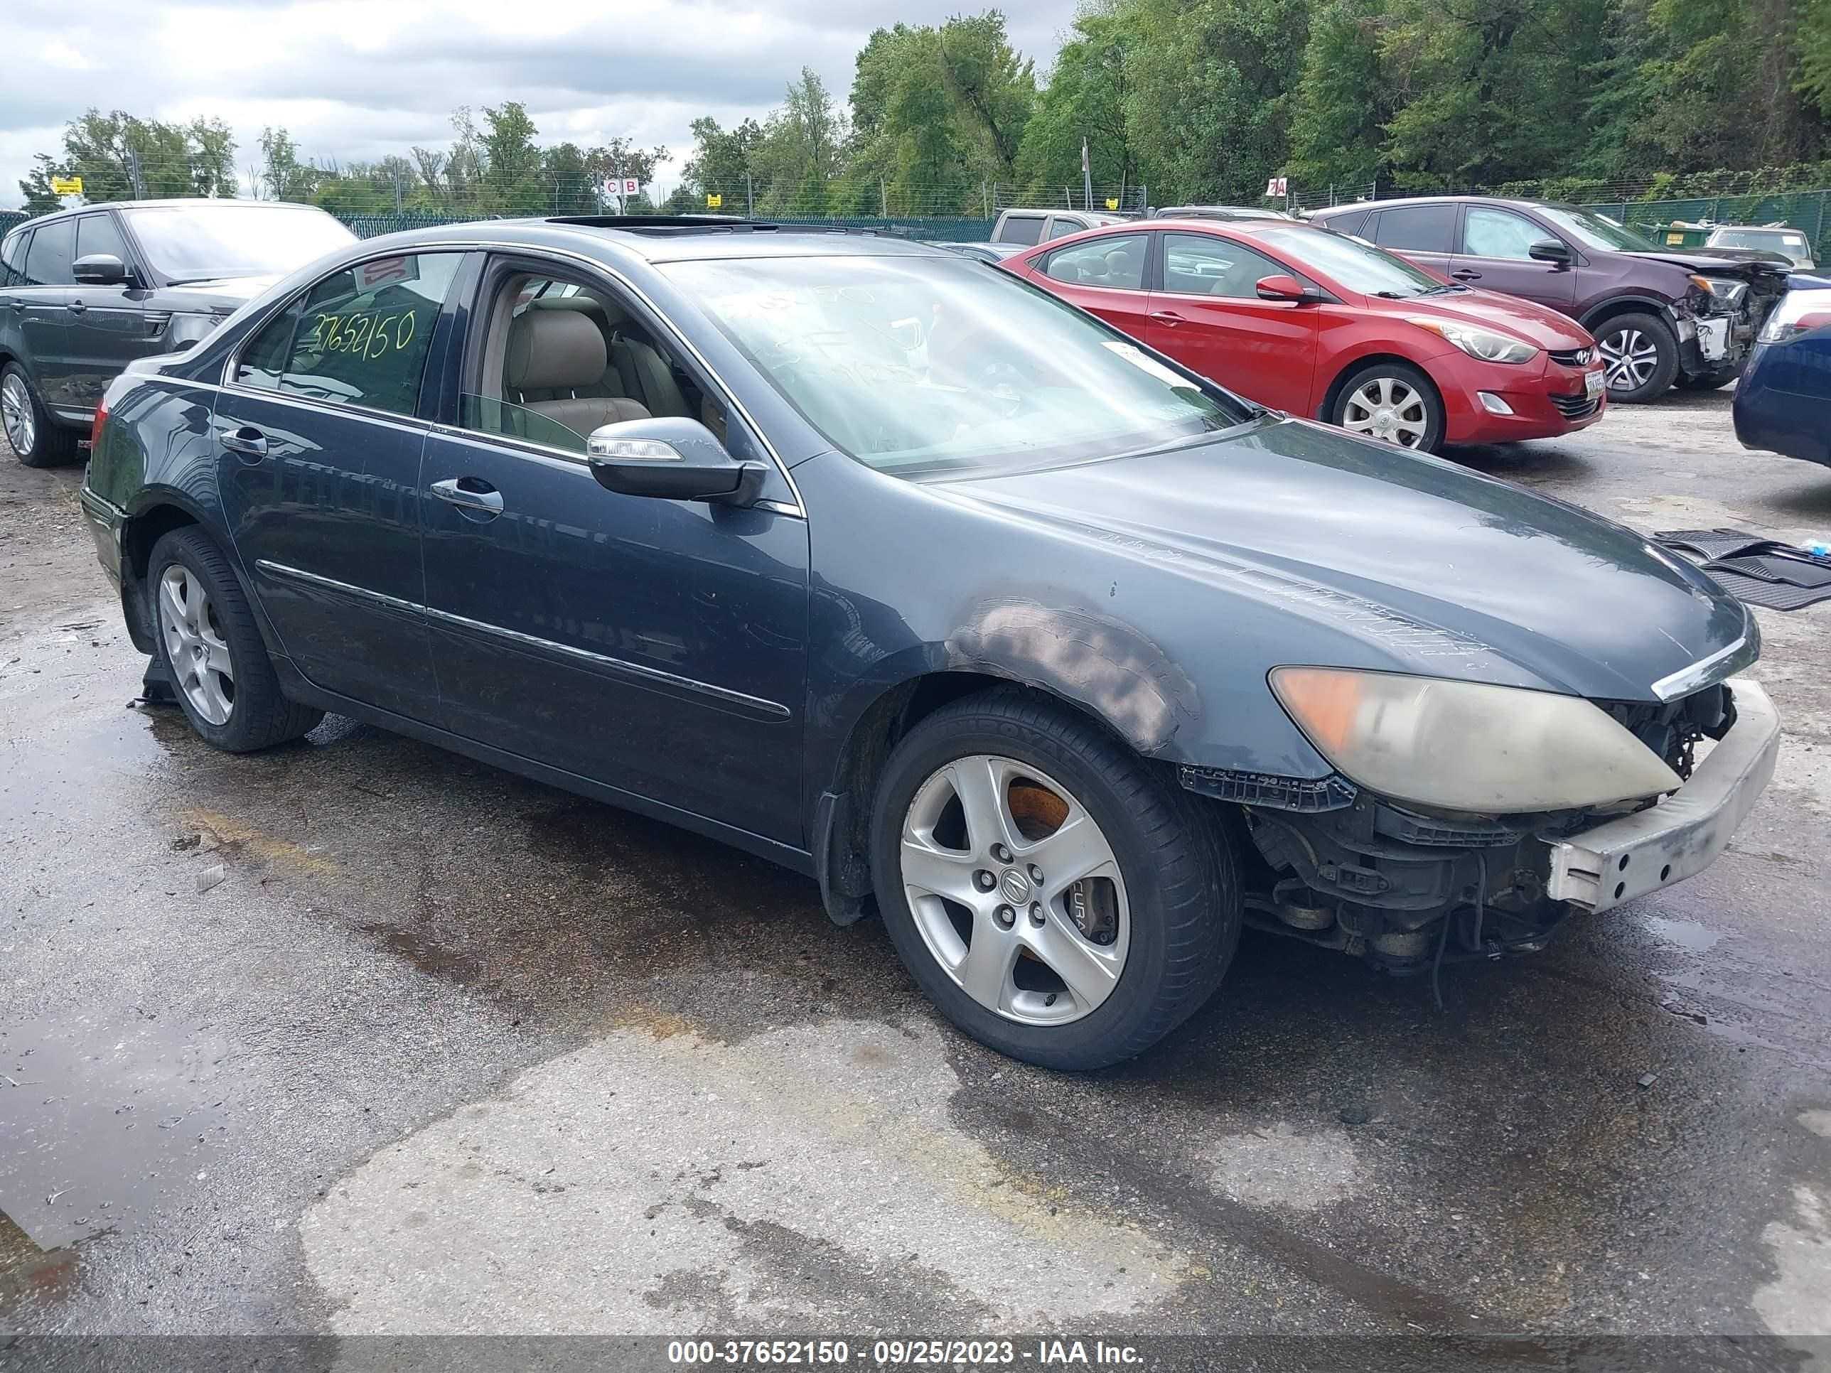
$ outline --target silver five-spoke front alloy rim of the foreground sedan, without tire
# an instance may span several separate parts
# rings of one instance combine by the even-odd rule
[[[987,1011],[1062,1025],[1119,985],[1132,943],[1119,857],[1046,773],[994,754],[947,763],[910,800],[899,857],[923,943]]]

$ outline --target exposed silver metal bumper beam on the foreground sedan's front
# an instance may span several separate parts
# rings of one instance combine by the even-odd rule
[[[1780,714],[1749,677],[1727,683],[1736,723],[1683,787],[1646,811],[1547,840],[1551,879],[1545,893],[1587,912],[1602,912],[1701,873],[1728,846],[1780,752]]]

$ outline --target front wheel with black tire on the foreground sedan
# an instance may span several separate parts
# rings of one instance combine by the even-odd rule
[[[974,773],[978,767],[991,771]],[[972,776],[991,780],[981,795],[1000,798],[998,816],[1011,826],[1003,833],[1018,840],[1003,860],[983,844],[974,848],[958,809],[952,787],[969,778],[961,785],[970,789]],[[1064,802],[1060,795],[1049,802],[1056,789],[1067,793],[1066,818],[1056,805],[1053,820],[1060,827],[1036,840],[1038,816],[1049,820],[1044,813]],[[1020,795],[1029,798],[1020,807],[1029,816],[1024,824],[1033,826],[1025,833],[1016,829],[1013,807]],[[1073,853],[1049,848],[1071,824],[1089,820],[1091,833],[1073,831],[1080,837]],[[906,826],[910,835],[923,835],[908,866]],[[1089,868],[1095,875],[1058,893],[1060,875],[1075,866],[1058,870],[1049,884],[1047,873],[1031,868],[1055,857],[1064,864],[1075,857],[1088,868],[1095,859],[1082,855],[1102,851],[1095,840],[1106,844],[1104,871],[1117,881]],[[936,859],[923,862],[930,853]],[[987,866],[980,871],[998,870],[989,892],[972,881],[981,862]],[[908,888],[919,888],[930,870],[943,870],[936,886],[952,882],[972,908],[945,906],[932,888],[912,903]],[[1014,904],[1007,884],[1013,873],[1024,873],[1018,886],[1038,877]],[[941,1014],[980,1043],[1042,1067],[1082,1071],[1144,1053],[1208,1000],[1240,941],[1238,862],[1219,816],[1091,721],[1020,690],[991,690],[943,707],[897,743],[872,813],[872,877],[897,956]],[[1111,919],[1110,928],[1077,928],[1069,914],[1077,890],[1088,921]],[[1035,904],[1025,904],[1031,897]],[[1000,908],[1013,914],[1011,926],[1002,926]],[[987,963],[976,967],[1003,970],[974,978],[974,946],[987,950]],[[1031,948],[1051,961],[1025,957],[1022,950]],[[1000,963],[1002,950],[1020,952],[1003,954]],[[943,956],[958,957],[958,965],[950,968]],[[1077,987],[1099,987],[1091,994],[1075,990],[1056,965],[1075,972]],[[969,992],[967,981],[974,979],[981,987],[996,981],[998,994]],[[994,1005],[1007,1000],[1005,1009]]]

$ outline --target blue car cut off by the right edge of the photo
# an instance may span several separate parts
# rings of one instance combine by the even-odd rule
[[[1745,449],[1831,467],[1831,276],[1794,273],[1736,384]]]

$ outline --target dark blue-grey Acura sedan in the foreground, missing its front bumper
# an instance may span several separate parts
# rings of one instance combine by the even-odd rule
[[[1066,1069],[1243,924],[1536,948],[1710,864],[1778,740],[1749,611],[1631,531],[875,236],[372,240],[117,381],[82,509],[212,745],[337,712],[718,837]]]

